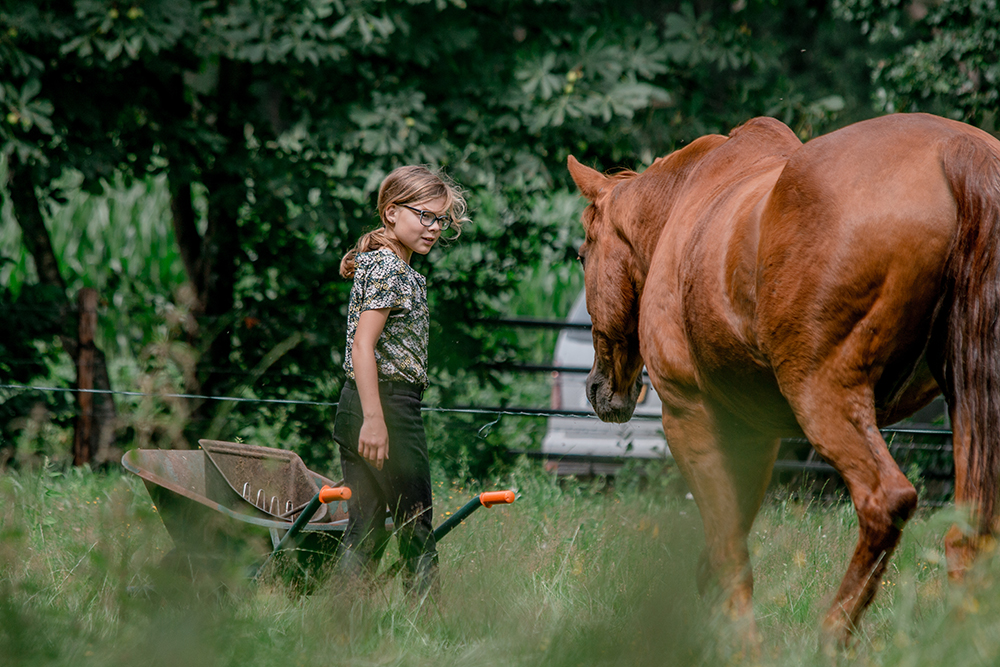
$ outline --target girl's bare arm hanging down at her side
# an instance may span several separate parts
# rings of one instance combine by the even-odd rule
[[[385,427],[382,400],[378,395],[375,343],[382,335],[388,319],[388,308],[363,311],[358,318],[358,328],[354,332],[354,343],[351,346],[354,382],[358,385],[361,412],[364,414],[361,434],[358,436],[358,453],[379,470],[389,458],[389,431]]]

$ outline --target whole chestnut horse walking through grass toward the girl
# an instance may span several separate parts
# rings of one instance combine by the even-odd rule
[[[569,158],[590,201],[580,248],[601,419],[635,408],[643,364],[705,527],[703,569],[756,638],[747,536],[783,436],[843,477],[859,536],[824,619],[846,640],[917,494],[879,427],[943,392],[961,576],[989,536],[1000,467],[1000,142],[925,114],[806,144],[756,118],[642,173]]]

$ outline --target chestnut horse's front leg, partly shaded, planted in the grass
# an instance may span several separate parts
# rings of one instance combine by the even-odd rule
[[[717,587],[726,615],[757,645],[747,536],[771,479],[779,440],[728,424],[702,404],[665,406],[663,428],[705,527],[699,588]]]

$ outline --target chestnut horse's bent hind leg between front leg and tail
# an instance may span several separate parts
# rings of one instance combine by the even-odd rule
[[[806,437],[843,477],[858,514],[858,544],[824,621],[845,641],[878,589],[917,492],[879,433],[871,389],[828,380],[817,374],[789,393]]]

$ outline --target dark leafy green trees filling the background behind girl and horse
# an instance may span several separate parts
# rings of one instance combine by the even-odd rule
[[[201,437],[328,466],[337,267],[413,162],[460,183],[473,219],[415,260],[425,402],[546,407],[524,366],[554,333],[502,321],[564,317],[580,289],[568,155],[641,170],[758,115],[803,140],[898,111],[995,132],[998,39],[987,0],[4,0],[0,466]],[[544,429],[427,420],[457,477]]]

